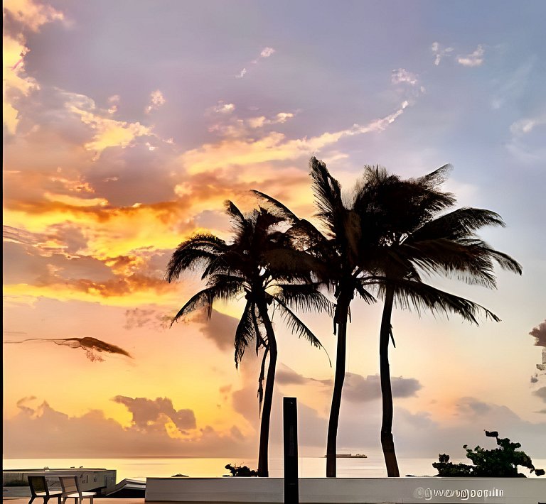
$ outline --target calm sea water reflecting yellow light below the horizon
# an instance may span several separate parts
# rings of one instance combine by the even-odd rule
[[[437,471],[432,467],[431,459],[399,459],[400,475],[434,476]],[[468,462],[468,461],[467,461]],[[546,459],[535,459],[536,467],[546,469]],[[49,467],[102,468],[116,469],[117,481],[124,478],[145,480],[146,477],[170,477],[185,474],[192,477],[217,477],[228,474],[226,464],[256,467],[255,459],[4,459],[4,469],[43,469]],[[299,476],[301,478],[321,478],[326,475],[326,459],[318,457],[299,458]],[[526,475],[528,471],[523,471]],[[282,457],[269,458],[269,476],[283,476]],[[382,478],[386,477],[385,461],[382,456],[368,456],[367,459],[338,459],[339,478]],[[532,476],[531,476],[532,477]]]

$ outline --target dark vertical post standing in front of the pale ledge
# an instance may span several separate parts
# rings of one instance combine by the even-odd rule
[[[298,410],[296,398],[283,398],[284,423],[284,502],[299,503],[298,488]]]

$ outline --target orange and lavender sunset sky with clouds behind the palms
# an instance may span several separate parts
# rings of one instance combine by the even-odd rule
[[[170,327],[202,284],[164,272],[197,231],[229,240],[223,204],[250,211],[252,189],[313,219],[314,155],[346,195],[365,165],[451,163],[446,190],[501,214],[481,236],[523,265],[497,290],[430,279],[501,322],[395,311],[399,457],[493,447],[488,429],[546,458],[545,16],[542,1],[4,1],[4,457],[256,457],[241,302]],[[380,449],[380,312],[353,304],[341,451]],[[328,317],[301,317],[335,361]],[[334,370],[274,324],[272,454],[294,396],[300,454],[322,456]]]

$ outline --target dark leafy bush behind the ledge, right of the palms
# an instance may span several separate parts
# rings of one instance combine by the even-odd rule
[[[473,466],[469,464],[453,464],[449,461],[449,455],[439,454],[438,461],[432,464],[437,469],[438,476],[476,476],[490,478],[525,478],[525,474],[518,473],[518,466],[527,467],[537,476],[544,474],[543,469],[535,469],[531,457],[520,451],[520,443],[510,442],[508,437],[499,438],[498,432],[486,431],[486,436],[495,437],[500,448],[486,450],[482,447],[469,449],[464,444],[467,458],[471,459]]]

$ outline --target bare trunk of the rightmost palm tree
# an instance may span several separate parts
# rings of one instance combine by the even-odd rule
[[[392,439],[392,388],[390,385],[389,370],[390,320],[394,298],[394,289],[387,285],[379,336],[379,363],[383,405],[381,447],[383,449],[383,456],[385,457],[385,465],[387,466],[387,476],[397,477],[400,476],[400,471],[398,471],[398,463],[396,461],[395,442]]]

